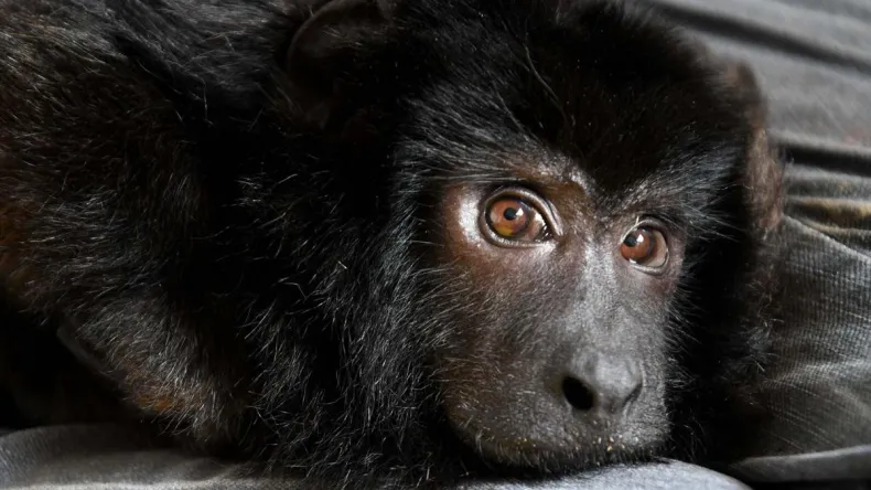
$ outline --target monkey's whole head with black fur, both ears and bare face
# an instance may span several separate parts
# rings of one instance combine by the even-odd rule
[[[300,256],[341,345],[318,361],[327,393],[362,414],[345,427],[556,471],[688,445],[725,412],[755,365],[777,221],[735,73],[611,3],[316,10],[286,109],[331,175]]]

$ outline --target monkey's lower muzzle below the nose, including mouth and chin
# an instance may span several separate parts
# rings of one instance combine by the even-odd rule
[[[444,400],[455,434],[483,459],[548,472],[649,457],[669,428],[657,393],[611,419],[579,415],[534,390],[466,385],[449,387]]]

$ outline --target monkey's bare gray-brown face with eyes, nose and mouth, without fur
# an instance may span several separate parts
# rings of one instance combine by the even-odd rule
[[[643,209],[596,209],[581,172],[531,170],[449,185],[439,206],[459,312],[440,352],[447,415],[505,462],[649,449],[668,427],[668,306],[685,238]]]

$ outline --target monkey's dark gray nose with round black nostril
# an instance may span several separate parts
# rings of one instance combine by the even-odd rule
[[[560,390],[577,412],[612,417],[641,394],[642,370],[632,360],[585,352],[568,364]]]

